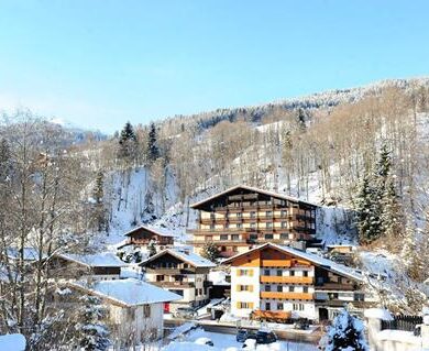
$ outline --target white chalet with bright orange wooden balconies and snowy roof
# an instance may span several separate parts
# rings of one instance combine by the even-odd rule
[[[231,311],[237,317],[279,320],[292,314],[321,320],[344,305],[361,309],[373,303],[359,274],[292,248],[268,243],[226,263],[231,264]]]

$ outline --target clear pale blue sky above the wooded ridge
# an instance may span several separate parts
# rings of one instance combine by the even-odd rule
[[[0,109],[113,132],[429,74],[429,1],[0,0]]]

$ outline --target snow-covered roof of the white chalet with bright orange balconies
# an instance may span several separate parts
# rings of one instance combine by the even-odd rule
[[[293,256],[310,261],[310,262],[312,262],[314,264],[316,264],[318,266],[321,266],[321,267],[323,267],[326,270],[332,271],[332,272],[334,272],[337,274],[350,277],[350,278],[352,278],[354,281],[364,282],[364,276],[361,273],[359,273],[356,270],[350,268],[350,267],[348,267],[348,266],[345,266],[343,264],[340,264],[340,263],[333,262],[331,260],[321,257],[321,256],[319,256],[317,254],[314,254],[314,253],[300,251],[300,250],[297,250],[297,249],[294,249],[294,248],[290,248],[290,246],[282,246],[282,245],[273,244],[271,242],[265,243],[265,244],[263,244],[261,246],[256,246],[256,248],[254,248],[252,250],[249,250],[248,252],[239,253],[239,254],[237,254],[237,255],[234,255],[232,257],[229,257],[228,260],[224,261],[224,263],[231,263],[237,257],[240,257],[242,255],[249,254],[250,252],[253,252],[253,251],[256,251],[256,250],[262,250],[262,249],[267,248],[267,246],[277,249],[277,250],[283,251],[283,252],[285,252],[287,254],[290,254]]]

